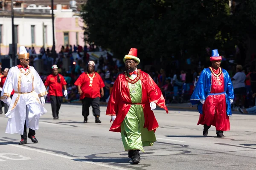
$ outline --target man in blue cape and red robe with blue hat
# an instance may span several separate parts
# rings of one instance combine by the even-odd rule
[[[198,105],[198,125],[204,125],[204,136],[208,135],[211,125],[216,127],[217,137],[225,137],[223,131],[230,130],[234,92],[229,74],[220,67],[221,59],[218,50],[212,50],[212,66],[202,71],[190,98],[192,105]]]

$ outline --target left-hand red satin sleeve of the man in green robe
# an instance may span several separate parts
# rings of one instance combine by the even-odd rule
[[[112,93],[108,100],[108,107],[107,107],[106,115],[114,116],[118,113],[118,103],[120,100],[120,96],[119,96],[118,92],[121,91],[120,87],[121,87],[120,78],[117,77],[117,79],[113,85]]]

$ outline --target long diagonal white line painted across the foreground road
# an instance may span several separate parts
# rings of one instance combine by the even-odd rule
[[[45,154],[52,155],[52,156],[58,156],[58,157],[61,157],[61,158],[66,158],[66,159],[71,159],[71,160],[75,159],[71,156],[59,155],[57,153],[50,153],[50,152],[46,152],[46,151],[43,151],[43,150],[38,150],[38,149],[29,148],[29,147],[19,146],[19,145],[16,145],[16,144],[8,144],[8,145],[9,146],[14,146],[14,147],[19,147],[19,148],[26,149],[26,150],[32,150],[32,151],[35,151],[35,152],[45,153]],[[105,165],[105,164],[92,162],[92,161],[84,160],[84,161],[81,161],[81,162],[84,162],[84,163],[87,163],[87,164],[95,164],[95,165],[99,165],[99,166],[102,166],[102,167],[108,167],[108,168],[112,168],[112,169],[115,169],[115,170],[126,170],[124,168],[114,167],[114,166],[111,166],[111,165]]]

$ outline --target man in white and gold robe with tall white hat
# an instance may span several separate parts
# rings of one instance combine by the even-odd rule
[[[21,145],[27,143],[27,137],[33,143],[38,143],[35,130],[38,130],[39,117],[47,112],[43,107],[47,90],[35,68],[29,66],[29,53],[24,46],[20,47],[18,59],[20,65],[10,68],[1,93],[1,100],[9,105],[6,113],[6,117],[9,118],[6,133],[20,134],[19,144]],[[11,99],[13,89],[15,94]],[[26,135],[27,127],[29,128],[28,136]]]

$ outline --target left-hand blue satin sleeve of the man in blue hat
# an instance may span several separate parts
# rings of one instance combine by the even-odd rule
[[[206,85],[206,69],[204,69],[198,79],[198,82],[196,83],[195,90],[190,98],[190,102],[192,105],[198,105],[201,104],[201,100],[205,101],[205,85]]]

